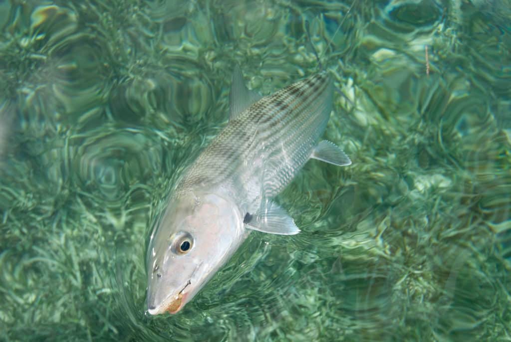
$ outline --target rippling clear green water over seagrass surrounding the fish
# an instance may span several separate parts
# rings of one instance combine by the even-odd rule
[[[0,340],[511,340],[511,3],[351,5],[0,1]],[[353,165],[309,162],[277,199],[303,232],[146,315],[151,219],[234,65],[268,94],[311,44]]]

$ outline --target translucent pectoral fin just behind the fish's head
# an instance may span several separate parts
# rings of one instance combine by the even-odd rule
[[[293,218],[272,202],[269,202],[268,207],[260,213],[253,215],[247,213],[244,223],[248,229],[269,234],[294,235],[300,232],[294,224]]]

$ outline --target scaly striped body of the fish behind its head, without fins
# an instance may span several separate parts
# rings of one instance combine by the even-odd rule
[[[222,184],[250,198],[273,197],[310,158],[332,110],[326,72],[265,96],[231,119],[201,153],[181,189]]]

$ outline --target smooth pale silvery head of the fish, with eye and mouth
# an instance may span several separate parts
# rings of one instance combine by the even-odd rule
[[[171,199],[147,252],[147,309],[176,313],[236,251],[243,217],[227,196],[190,192]]]

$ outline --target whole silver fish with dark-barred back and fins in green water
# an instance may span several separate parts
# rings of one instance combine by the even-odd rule
[[[332,111],[326,71],[261,97],[239,67],[226,127],[181,176],[151,234],[147,255],[150,314],[176,313],[213,277],[251,230],[300,230],[271,199],[310,159],[350,165],[320,141]]]

